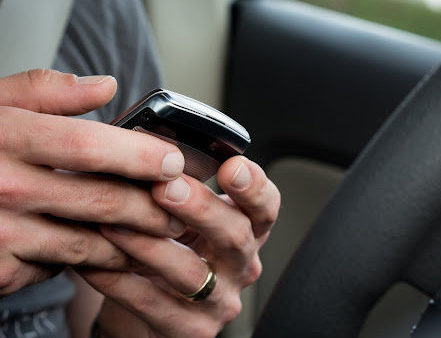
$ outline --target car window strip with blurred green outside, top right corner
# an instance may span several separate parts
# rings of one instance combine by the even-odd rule
[[[441,0],[300,0],[441,40]]]

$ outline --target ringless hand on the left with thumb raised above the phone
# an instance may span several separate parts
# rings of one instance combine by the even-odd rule
[[[90,224],[172,238],[184,232],[146,189],[117,178],[177,178],[184,166],[177,147],[58,116],[97,109],[115,91],[110,76],[32,70],[0,79],[0,297],[49,278],[57,266],[129,269],[130,259]]]

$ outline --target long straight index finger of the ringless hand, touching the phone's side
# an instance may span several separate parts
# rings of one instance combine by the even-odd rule
[[[176,146],[144,133],[13,108],[0,119],[0,148],[31,164],[159,181],[184,168]]]

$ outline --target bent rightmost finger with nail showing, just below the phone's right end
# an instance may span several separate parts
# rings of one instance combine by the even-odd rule
[[[226,161],[218,171],[220,187],[248,215],[256,238],[271,229],[280,208],[280,192],[256,163],[242,156]]]

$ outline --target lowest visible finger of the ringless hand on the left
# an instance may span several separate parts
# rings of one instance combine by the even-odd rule
[[[127,271],[132,260],[98,232],[36,215],[2,213],[9,252],[22,261]]]

